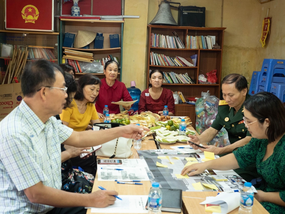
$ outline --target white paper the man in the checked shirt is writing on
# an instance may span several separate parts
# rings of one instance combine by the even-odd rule
[[[117,199],[109,207],[91,207],[91,213],[148,213],[145,209],[148,195],[119,195],[119,197],[123,200]]]

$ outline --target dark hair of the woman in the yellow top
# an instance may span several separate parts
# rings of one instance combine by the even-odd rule
[[[74,95],[74,99],[82,101],[84,99],[83,88],[86,85],[97,85],[101,86],[101,80],[94,74],[84,74],[78,79],[77,92]],[[96,100],[96,99],[95,99]]]

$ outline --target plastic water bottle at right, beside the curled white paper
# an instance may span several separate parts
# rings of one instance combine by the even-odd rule
[[[251,183],[245,182],[245,186],[241,191],[239,214],[252,214],[253,197],[254,193],[251,189]]]

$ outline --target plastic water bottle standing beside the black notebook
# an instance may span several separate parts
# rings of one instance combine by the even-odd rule
[[[159,183],[152,183],[148,194],[148,214],[161,213],[162,192]]]

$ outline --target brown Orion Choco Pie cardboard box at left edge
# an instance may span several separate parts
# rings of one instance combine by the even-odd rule
[[[7,116],[22,100],[21,83],[0,85],[0,118]]]

